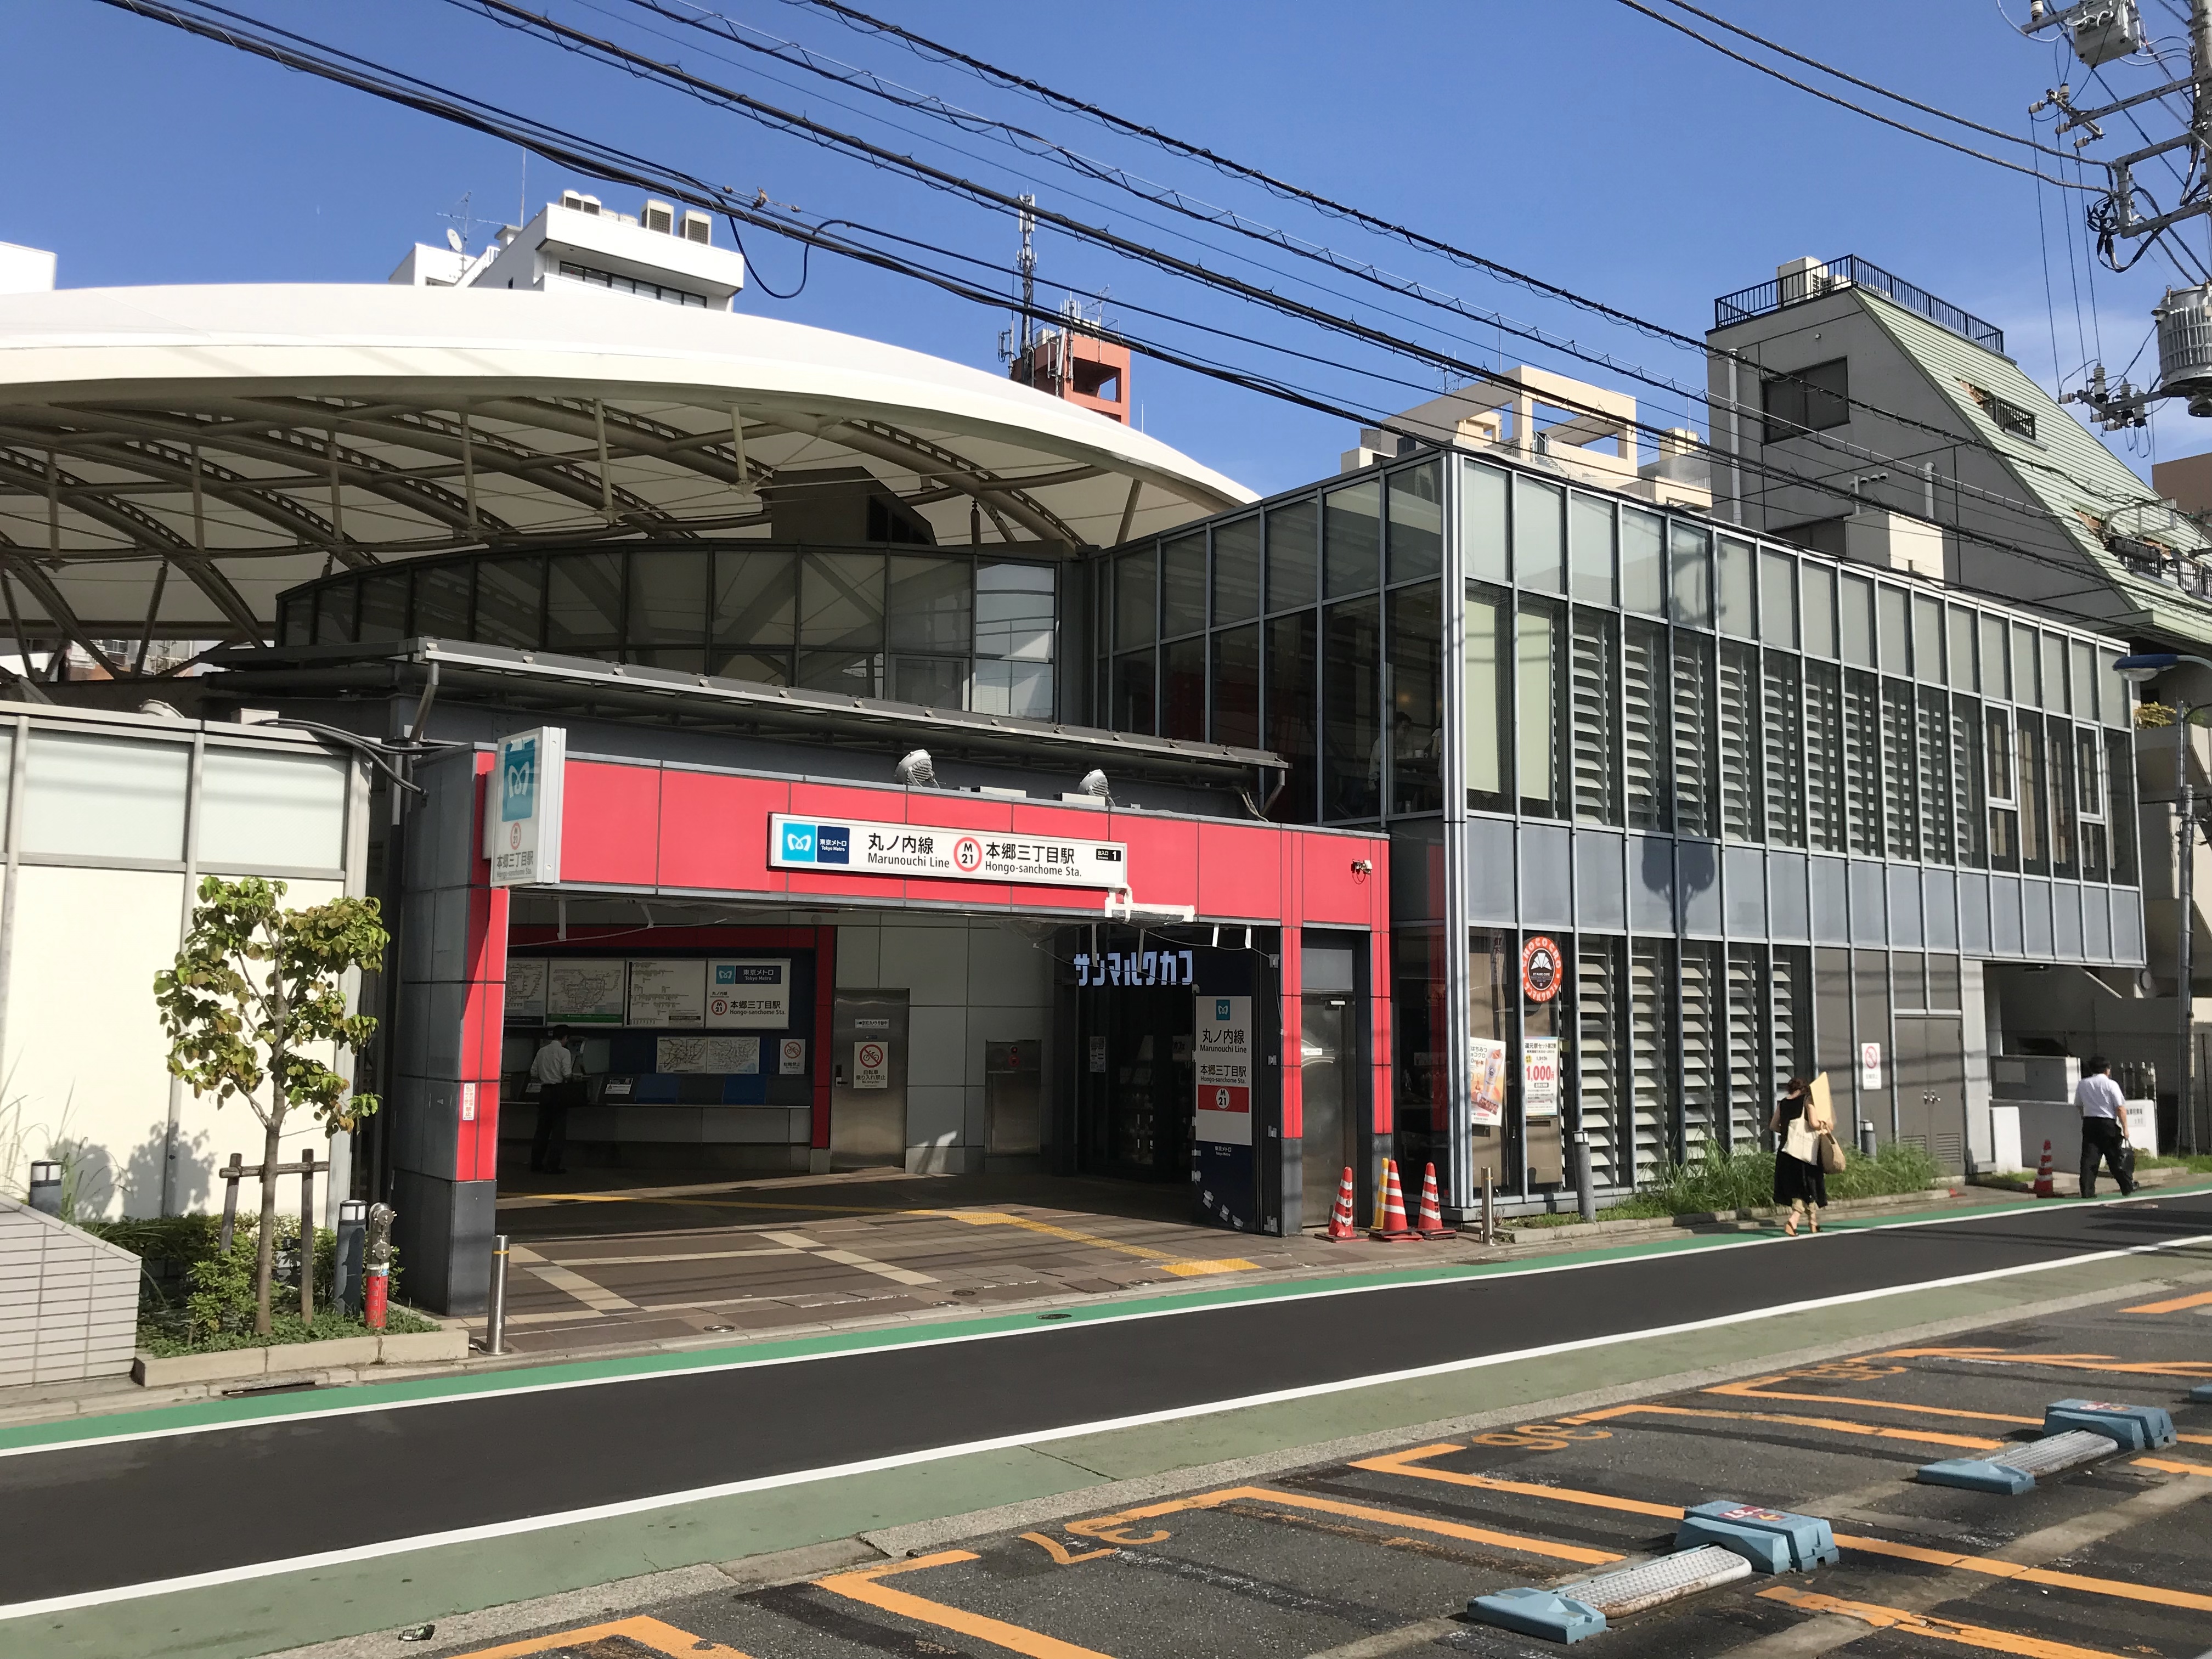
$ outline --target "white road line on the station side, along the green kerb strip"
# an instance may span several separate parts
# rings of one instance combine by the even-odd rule
[[[2075,1199],[2066,1208],[2068,1210],[2088,1210],[2088,1208],[2099,1208],[2101,1210],[2101,1208],[2117,1206],[2117,1203],[2124,1203],[2124,1199],[2117,1199],[2117,1197],[2115,1199]],[[2022,1206],[2020,1210],[1997,1210],[1995,1214],[2033,1214],[2033,1210],[2028,1210],[2026,1206]],[[1918,1219],[1918,1221],[1882,1221],[1882,1223],[1878,1223],[1874,1228],[1854,1228],[1849,1232],[1829,1232],[1829,1234],[1820,1234],[1818,1239],[1829,1239],[1834,1243],[1840,1243],[1840,1241],[1847,1241],[1847,1239],[1865,1237],[1869,1232],[1907,1232],[1907,1230],[1913,1230],[1913,1228],[1940,1228],[1940,1225],[1951,1225],[1955,1221],[1984,1221],[1984,1219],[1991,1219],[1991,1212],[1984,1210],[1980,1214],[1924,1217],[1924,1219]],[[1683,1250],[1683,1252],[1674,1252],[1674,1254],[1692,1254],[1694,1256],[1694,1254],[1710,1254],[1714,1250],[1767,1250],[1767,1248],[1781,1248],[1781,1245],[1787,1245],[1792,1250],[1818,1250],[1820,1248],[1818,1239],[1785,1239],[1783,1234],[1743,1237],[1743,1239],[1728,1239],[1728,1241],[1721,1241],[1721,1243],[1697,1245],[1692,1250]],[[2126,1250],[2095,1250],[2095,1252],[2084,1252],[2079,1256],[2059,1256],[2055,1261],[2031,1261],[2031,1263],[2022,1263],[2020,1267],[1995,1267],[1995,1270],[1989,1270],[1989,1272],[1982,1272],[1982,1274],[1964,1274],[1964,1276],[1951,1276],[1951,1279],[1918,1279],[1918,1281],[1911,1281],[1911,1283],[1905,1283],[1905,1285],[1885,1285],[1880,1290],[1854,1290],[1854,1292],[1847,1292],[1847,1294],[1840,1294],[1840,1296],[1834,1296],[1834,1298],[1827,1298],[1827,1301],[1787,1303],[1787,1305],[1778,1305],[1774,1310],[1752,1310],[1747,1314],[1732,1314],[1732,1316],[1728,1316],[1728,1318],[1723,1318],[1719,1323],[1725,1325],[1725,1323],[1734,1323],[1734,1321],[1743,1321],[1743,1318],[1765,1318],[1770,1312],[1794,1312],[1798,1307],[1840,1307],[1840,1305],[1854,1303],[1854,1301],[1871,1301],[1871,1298],[1878,1298],[1878,1296],[1902,1296],[1902,1294],[1909,1294],[1909,1292],[1916,1292],[1916,1290],[1944,1290],[1949,1285],[1975,1285],[1975,1283],[1982,1283],[1984,1279],[2008,1279],[2013,1274],[2048,1272],[2053,1267],[2075,1267],[2075,1265],[2081,1265],[2081,1263],[2088,1263],[2088,1261],[2117,1261],[2117,1259],[2124,1259],[2124,1256],[2139,1256],[2139,1254],[2154,1252],[2154,1250],[2179,1250],[2183,1245],[2194,1245],[2194,1243],[2212,1243],[2212,1232],[2199,1232],[2199,1234],[2190,1234],[2185,1239],[2168,1239],[2163,1243],[2150,1243],[2150,1245],[2128,1245]],[[1657,1259],[1661,1259],[1661,1256],[1630,1256],[1628,1261],[1657,1261]],[[1327,1301],[1332,1296],[1374,1296],[1378,1292],[1391,1292],[1391,1290],[1431,1290],[1431,1287],[1438,1287],[1438,1285],[1484,1285],[1484,1283],[1495,1283],[1495,1281],[1502,1281],[1502,1279],[1542,1279],[1546,1274],[1586,1272],[1586,1270],[1593,1270],[1593,1267],[1615,1267],[1619,1263],[1621,1263],[1619,1256],[1601,1256],[1601,1259],[1593,1256],[1593,1259],[1584,1259],[1584,1261],[1555,1261],[1555,1263],[1546,1263],[1546,1265],[1540,1265],[1540,1267],[1506,1267],[1502,1272],[1480,1272],[1480,1270],[1478,1272],[1451,1272],[1451,1270],[1444,1270],[1444,1272],[1440,1272],[1433,1279],[1398,1279],[1398,1281],[1385,1281],[1385,1283],[1329,1285],[1327,1290],[1296,1290],[1296,1292],[1287,1292],[1283,1296],[1270,1296],[1267,1294],[1267,1285],[1252,1285],[1254,1294],[1250,1298],[1241,1301],[1241,1303],[1199,1301],[1199,1303],[1186,1303],[1181,1307],[1128,1307],[1128,1310],[1121,1310],[1121,1312],[1099,1310],[1095,1314],[1086,1312],[1082,1316],[1082,1327],[1088,1329],[1088,1327],[1095,1327],[1095,1325],[1126,1325],[1126,1323],[1141,1321],[1141,1318],[1179,1318],[1183,1314],[1210,1314],[1214,1310],[1230,1307],[1230,1305],[1279,1307],[1283,1303]],[[1071,1325],[1071,1327],[1062,1327],[1062,1329],[1077,1329],[1077,1327]],[[1694,1329],[1694,1327],[1681,1327],[1681,1329]],[[35,1455],[46,1453],[46,1451],[75,1451],[80,1447],[113,1447],[113,1444],[126,1444],[126,1442],[133,1442],[133,1440],[173,1440],[177,1436],[188,1436],[188,1433],[226,1433],[230,1429],[259,1429],[259,1427],[279,1425],[279,1422],[312,1422],[316,1418],[352,1418],[352,1416],[361,1416],[361,1413],[367,1413],[367,1411],[411,1411],[416,1407],[427,1407],[427,1405],[462,1405],[462,1402],[469,1402],[469,1400],[500,1400],[500,1398],[511,1396],[511,1394],[549,1394],[549,1391],[560,1391],[560,1389],[602,1389],[602,1387],[617,1387],[622,1383],[655,1383],[655,1380],[672,1378],[672,1376],[712,1376],[717,1371],[752,1371],[752,1369],[772,1367],[772,1365],[812,1365],[814,1360],[841,1360],[841,1358],[856,1358],[860,1354],[902,1354],[902,1352],[916,1349],[916,1347],[951,1347],[956,1343],[995,1343],[995,1340],[1000,1340],[1004,1336],[1042,1336],[1042,1334],[1046,1334],[1046,1327],[1031,1323],[1031,1325],[1009,1325],[1009,1327],[993,1329],[993,1332],[953,1332],[951,1336],[920,1336],[920,1338],[914,1338],[914,1340],[887,1343],[883,1347],[836,1347],[836,1349],[821,1349],[821,1352],[814,1352],[814,1354],[776,1354],[776,1356],[770,1356],[770,1358],[719,1360],[714,1365],[670,1365],[666,1369],[655,1369],[655,1371],[615,1371],[611,1376],[575,1376],[575,1378],[562,1378],[560,1383],[513,1383],[509,1387],[495,1387],[495,1389],[462,1389],[462,1391],[447,1391],[447,1394],[427,1394],[427,1396],[418,1396],[418,1398],[411,1398],[411,1400],[363,1400],[363,1402],[349,1402],[349,1405],[316,1407],[312,1411],[270,1411],[268,1416],[259,1416],[259,1418],[223,1418],[223,1420],[217,1420],[217,1422],[179,1422],[179,1425],[173,1425],[173,1427],[166,1427],[166,1429],[133,1429],[133,1431],[126,1431],[126,1433],[88,1436],[84,1440],[46,1440],[46,1442],[38,1442],[38,1444],[29,1444],[29,1447],[0,1447],[0,1458],[35,1458]],[[1537,1352],[1537,1349],[1531,1349],[1531,1352]],[[1551,1349],[1542,1349],[1542,1352],[1551,1352]],[[1489,1363],[1489,1360],[1482,1360],[1482,1363]],[[1398,1374],[1387,1374],[1380,1380],[1389,1380],[1391,1376],[1398,1376]],[[1360,1387],[1360,1383],[1354,1380],[1354,1383],[1349,1383],[1345,1387]]]

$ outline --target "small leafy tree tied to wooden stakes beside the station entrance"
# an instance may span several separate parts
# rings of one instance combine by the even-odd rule
[[[254,1252],[259,1336],[270,1334],[283,1121],[292,1108],[307,1106],[325,1133],[334,1133],[376,1110],[376,1095],[349,1093],[347,1082],[307,1051],[327,1042],[358,1053],[367,1044],[376,1020],[345,1011],[341,975],[380,969],[387,940],[374,898],[283,909],[283,894],[281,880],[208,876],[199,883],[192,931],[177,951],[177,967],[153,975],[170,1073],[195,1095],[212,1093],[217,1106],[243,1097],[265,1130]],[[303,1239],[303,1261],[312,1261],[312,1252],[314,1241]],[[307,1312],[305,1298],[301,1310]]]

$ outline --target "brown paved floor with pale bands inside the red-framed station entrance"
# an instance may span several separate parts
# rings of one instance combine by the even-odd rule
[[[896,1170],[630,1188],[546,1177],[500,1199],[500,1228],[518,1354],[1500,1254],[1473,1234],[1223,1232],[1188,1219],[1179,1186]]]

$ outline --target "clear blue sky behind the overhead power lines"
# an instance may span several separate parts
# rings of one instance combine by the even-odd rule
[[[681,58],[695,73],[757,97],[803,108],[1004,190],[1033,188],[1073,217],[1352,310],[1462,356],[1486,363],[1500,356],[1500,338],[1489,327],[1385,296],[1230,232],[1172,221],[1110,186],[1077,179],[987,137],[717,46],[653,20],[628,0],[542,2],[580,29]],[[2150,257],[2126,276],[2099,270],[2093,283],[2081,257],[2079,192],[2046,190],[2039,232],[2031,179],[1820,104],[1617,0],[1533,7],[1500,0],[1133,0],[1082,13],[995,0],[872,2],[880,15],[980,58],[1692,336],[1710,325],[1717,294],[1772,276],[1776,261],[1858,252],[2004,327],[2011,352],[2037,378],[2051,383],[2057,372],[2077,383],[2081,363],[2099,352],[2119,374],[2150,327],[2148,307],[2166,281],[2174,281],[2172,268]],[[1234,206],[1471,305],[1504,312],[1515,323],[1613,352],[1674,380],[1703,383],[1694,352],[1323,219],[867,40],[805,4],[714,4],[765,35],[799,40],[905,86],[1037,128],[1091,157]],[[2024,0],[2011,4],[2024,13]],[[644,86],[449,0],[385,0],[378,7],[239,0],[239,7],[701,177],[748,192],[768,190],[812,217],[860,219],[1006,263],[1013,257],[1015,232],[1002,212]],[[2062,77],[2077,88],[2084,84],[2077,64],[2059,64],[2051,44],[2022,40],[1997,7],[1705,0],[1705,9],[2011,133],[2026,131],[2026,104],[2051,84]],[[2159,31],[2179,29],[2166,0],[2146,0],[2146,11]],[[190,40],[95,0],[18,0],[0,13],[0,42],[11,84],[0,104],[0,150],[15,157],[0,188],[0,241],[58,250],[64,285],[380,281],[411,241],[440,241],[456,223],[440,215],[458,212],[465,197],[484,221],[478,241],[524,199],[524,161],[509,144]],[[2135,91],[2150,84],[2148,73],[2124,66],[2115,82]],[[2170,119],[2154,117],[2152,131],[2163,137],[2172,131]],[[2008,148],[1962,137],[1978,148]],[[2135,142],[2124,128],[2117,137]],[[588,179],[531,161],[526,201],[535,210],[568,184],[591,188]],[[2154,164],[2143,184],[2161,197],[2172,195]],[[611,206],[635,210],[635,190],[606,188],[602,195]],[[2062,215],[2075,215],[2070,261]],[[2185,234],[2197,248],[2205,246],[2203,221]],[[790,246],[763,234],[748,234],[745,246],[770,285],[787,290],[796,281]],[[1159,327],[1133,310],[1150,305],[1310,352],[1323,363],[1175,334],[1177,343],[1234,356],[1336,400],[1405,407],[1440,385],[1433,367],[1194,292],[1046,230],[1040,292],[1057,299],[1066,288],[1106,290],[1108,316],[1135,332]],[[978,367],[995,363],[998,334],[1006,325],[1002,312],[836,259],[816,259],[796,299],[776,301],[754,285],[739,305]],[[1502,345],[1509,363],[1533,361],[1617,383],[1544,347]],[[2143,356],[2154,363],[2154,347]],[[1679,398],[1648,387],[1624,389],[1646,400],[1646,418],[1686,420]],[[1161,365],[1139,365],[1135,396],[1148,431],[1256,489],[1290,487],[1334,469],[1336,451],[1354,438],[1349,422],[1334,416]],[[1688,420],[1701,425],[1701,411],[1690,409]],[[2212,447],[2212,427],[2179,409],[2161,414],[2150,436],[2159,456]],[[2128,458],[2148,469],[2143,436]]]

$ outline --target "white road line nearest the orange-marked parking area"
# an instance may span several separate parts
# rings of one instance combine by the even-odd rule
[[[345,1566],[349,1562],[374,1562],[387,1555],[405,1555],[407,1551],[445,1548],[449,1544],[476,1544],[491,1537],[520,1537],[526,1533],[544,1533],[557,1526],[577,1526],[584,1522],[617,1520],[622,1515],[648,1515],[659,1509],[677,1509],[681,1504],[699,1504],[714,1498],[737,1498],[754,1491],[776,1491],[781,1486],[805,1486],[818,1480],[841,1480],[845,1475],[867,1475],[885,1469],[911,1469],[916,1464],[945,1462],[949,1458],[964,1458],[980,1451],[1011,1451],[1013,1447],[1040,1447],[1040,1444],[1051,1444],[1055,1440],[1077,1440],[1091,1433],[1113,1433],[1115,1429],[1141,1429],[1157,1422],[1183,1422],[1190,1418],[1219,1416],[1223,1411],[1245,1411],[1263,1405],[1283,1405],[1290,1400],[1314,1400],[1329,1394],[1352,1394],[1354,1389],[1385,1387],[1389,1383],[1416,1383],[1422,1378],[1451,1376],[1458,1371],[1482,1371],[1493,1365],[1513,1365],[1515,1360],[1551,1358],[1555,1354],[1586,1354],[1590,1349],[1619,1347],[1621,1343],[1644,1343],[1657,1336],[1686,1336],[1690,1332],[1725,1329],[1728,1325],[1754,1325],[1759,1321],[1781,1318],[1783,1314],[1807,1314],[1823,1307],[1849,1307],[1851,1303],[1882,1301],[1887,1296],[1905,1296],[1916,1290],[1982,1285],[1993,1279],[2013,1279],[2020,1274],[2048,1272],[2053,1267],[2079,1267],[2090,1261],[2119,1261],[2126,1256],[2143,1256],[2159,1250],[2174,1250],[2181,1245],[2208,1243],[2208,1241],[2212,1241],[2212,1234],[2197,1234],[2190,1239],[2170,1239],[2163,1243],[2130,1245],[2126,1250],[2097,1250],[2081,1256],[2066,1256],[2064,1261],[2042,1261],[2042,1263],[2026,1263],[2020,1267],[1993,1267],[1989,1272],[1978,1272],[1978,1274],[1953,1274],[1949,1279],[1929,1279],[1918,1285],[1854,1290],[1840,1296],[1816,1296],[1801,1303],[1781,1303],[1776,1307],[1754,1307],[1741,1314],[1694,1318],[1681,1325],[1652,1325],[1639,1332],[1584,1336],[1573,1343],[1544,1343],[1540,1347],[1522,1347],[1511,1354],[1482,1354],[1478,1358],[1442,1360],[1438,1365],[1416,1365],[1402,1371],[1376,1371],[1369,1376],[1354,1376],[1338,1383],[1307,1383],[1296,1389],[1270,1389],[1265,1394],[1243,1394],[1232,1400],[1208,1400],[1203,1405],[1168,1407],[1164,1411],[1137,1411],[1126,1418],[1099,1418],[1095,1422],[1075,1422],[1075,1425],[1064,1425],[1060,1429],[1035,1429],[1029,1433],[993,1436],[989,1440],[962,1440],[951,1447],[927,1447],[922,1451],[905,1451],[889,1458],[863,1458],[856,1462],[823,1464],[818,1469],[799,1469],[787,1475],[754,1475],[752,1480],[728,1480],[714,1486],[692,1486],[688,1491],[655,1493],[650,1498],[630,1498],[619,1504],[588,1504],[582,1509],[564,1509],[549,1515],[522,1515],[518,1520],[487,1522],[482,1526],[456,1526],[442,1533],[416,1533],[414,1537],[392,1537],[376,1544],[354,1544],[338,1551],[316,1551],[314,1555],[290,1555],[274,1562],[248,1562],[246,1566],[226,1566],[212,1573],[186,1573],[168,1579],[148,1579],[144,1584],[117,1584],[106,1590],[51,1595],[40,1601],[15,1601],[0,1606],[0,1619],[46,1617],[53,1613],[73,1613],[77,1608],[111,1606],[115,1601],[139,1601],[150,1595],[201,1590],[219,1584],[246,1584],[252,1579],[276,1577],[279,1573],[310,1573],[325,1566]],[[942,1340],[947,1343],[987,1340],[989,1336],[993,1334],[982,1334],[978,1338],[942,1338]],[[936,1347],[936,1345],[938,1343],[916,1343],[914,1347]],[[805,1356],[805,1358],[816,1358],[816,1356]],[[726,1367],[712,1367],[712,1369],[726,1369]],[[133,1436],[117,1436],[117,1438],[133,1438]],[[73,1444],[88,1444],[88,1442],[73,1442]]]

